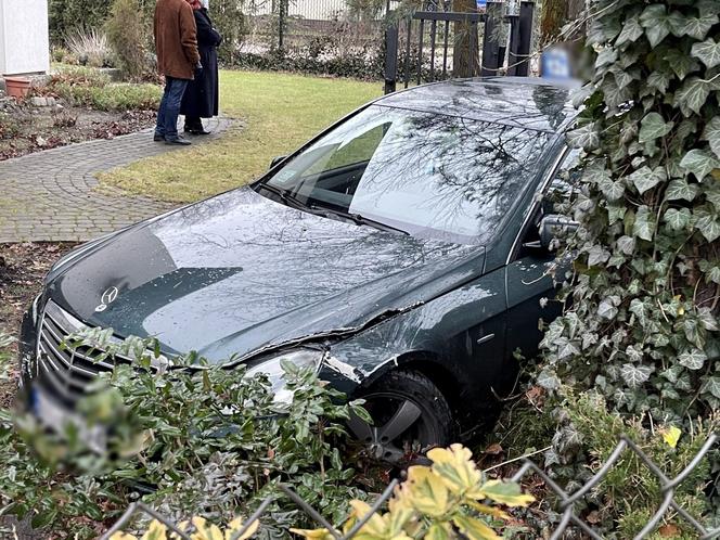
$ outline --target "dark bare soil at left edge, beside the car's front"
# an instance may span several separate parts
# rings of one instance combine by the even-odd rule
[[[23,313],[40,292],[50,267],[75,244],[0,244],[0,336],[18,337]],[[1,340],[1,339],[0,339]],[[12,403],[15,395],[17,348],[13,344],[4,352],[12,363],[9,381],[0,378],[0,408]]]

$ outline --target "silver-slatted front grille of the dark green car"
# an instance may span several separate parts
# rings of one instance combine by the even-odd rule
[[[63,340],[89,326],[52,300],[48,300],[40,320],[37,346],[37,383],[65,404],[74,404],[87,394],[88,385],[102,372],[111,372],[116,362],[132,363],[115,356],[97,360],[100,350],[81,346],[66,348]]]

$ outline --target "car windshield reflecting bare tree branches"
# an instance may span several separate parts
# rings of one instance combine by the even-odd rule
[[[265,181],[290,203],[413,236],[487,243],[552,133],[371,105]]]

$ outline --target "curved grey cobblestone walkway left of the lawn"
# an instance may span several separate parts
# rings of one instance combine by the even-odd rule
[[[202,141],[216,139],[230,123],[213,119],[213,134]],[[180,147],[153,142],[152,133],[151,128],[0,162],[0,243],[86,241],[172,208],[104,187],[94,190],[97,172]]]

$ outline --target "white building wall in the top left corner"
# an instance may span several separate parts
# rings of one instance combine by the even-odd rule
[[[0,75],[49,69],[48,0],[0,0]]]

